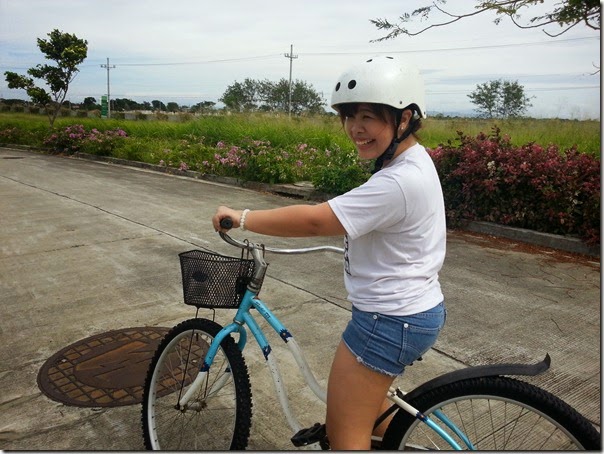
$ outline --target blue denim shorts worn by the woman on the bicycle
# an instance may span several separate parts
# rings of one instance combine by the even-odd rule
[[[361,364],[396,377],[436,341],[445,324],[444,302],[414,315],[389,316],[352,307],[342,340]]]

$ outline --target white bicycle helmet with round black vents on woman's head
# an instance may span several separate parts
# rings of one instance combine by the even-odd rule
[[[377,56],[355,65],[339,78],[331,94],[331,107],[345,103],[386,104],[395,109],[411,105],[426,118],[424,81],[419,70],[398,58]]]

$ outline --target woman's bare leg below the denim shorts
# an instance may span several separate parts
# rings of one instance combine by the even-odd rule
[[[327,437],[333,450],[368,450],[375,420],[394,377],[363,364],[340,342],[327,385]]]

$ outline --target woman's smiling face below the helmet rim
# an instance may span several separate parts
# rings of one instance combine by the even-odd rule
[[[342,106],[340,116],[361,159],[376,159],[394,139],[394,115],[383,106],[347,104]]]

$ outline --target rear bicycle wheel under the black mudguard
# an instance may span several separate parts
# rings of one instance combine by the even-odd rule
[[[460,380],[408,402],[462,449],[599,450],[601,445],[598,431],[568,404],[536,386],[508,377]],[[458,433],[451,424],[445,424],[446,420]],[[452,449],[434,430],[403,410],[388,426],[382,448]]]

